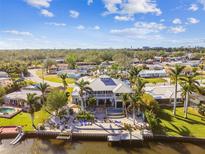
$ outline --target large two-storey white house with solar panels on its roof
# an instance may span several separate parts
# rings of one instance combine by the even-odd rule
[[[102,75],[99,78],[84,77],[79,80],[88,81],[90,84],[88,87],[92,89],[92,94],[85,94],[84,99],[90,96],[96,98],[96,106],[106,106],[121,108],[122,95],[125,93],[132,93],[132,89],[119,79],[114,79],[106,75]],[[79,88],[74,88],[72,93],[72,99],[74,103],[80,102]]]

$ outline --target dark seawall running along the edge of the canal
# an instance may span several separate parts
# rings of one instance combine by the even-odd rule
[[[17,136],[17,133],[8,133],[8,134],[0,134],[0,140],[3,139],[13,139]],[[25,136],[23,138],[39,138],[39,139],[56,139],[57,136],[62,135],[60,132],[50,132],[50,133],[37,133],[37,132],[25,132]],[[71,133],[69,134],[72,141],[107,141],[108,142],[108,134],[86,134],[86,133]],[[130,142],[130,143],[143,143],[143,142],[181,142],[181,143],[205,143],[205,138],[197,138],[190,136],[166,136],[166,135],[143,135],[142,141],[116,141],[116,142]]]

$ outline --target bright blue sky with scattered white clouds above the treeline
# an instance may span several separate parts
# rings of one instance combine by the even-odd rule
[[[0,49],[205,46],[205,0],[0,0]]]

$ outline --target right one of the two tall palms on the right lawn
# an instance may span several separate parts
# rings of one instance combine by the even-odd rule
[[[185,118],[187,118],[187,111],[189,106],[189,97],[192,92],[199,92],[199,82],[196,80],[196,76],[198,73],[193,73],[190,75],[186,75],[185,77],[180,78],[181,82],[180,85],[182,87],[183,93],[185,94],[185,104],[184,104],[184,111],[185,111]]]

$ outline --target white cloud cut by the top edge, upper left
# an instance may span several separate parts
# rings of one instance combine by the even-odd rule
[[[45,7],[48,8],[50,6],[50,2],[52,0],[25,0],[29,5],[33,7]]]

